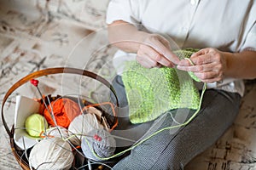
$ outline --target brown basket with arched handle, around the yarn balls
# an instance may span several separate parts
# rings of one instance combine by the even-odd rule
[[[12,94],[17,88],[19,88],[20,86],[22,86],[26,82],[29,82],[31,79],[34,79],[34,78],[44,77],[44,76],[53,75],[53,74],[83,75],[84,77],[90,77],[92,79],[95,79],[95,80],[101,82],[105,86],[107,86],[111,90],[111,92],[113,93],[113,96],[116,99],[116,103],[113,104],[113,106],[114,106],[114,111],[113,112],[114,113],[109,114],[111,116],[111,119],[106,117],[107,121],[108,121],[108,125],[111,129],[113,129],[114,127],[117,126],[117,123],[118,123],[117,108],[119,107],[119,102],[118,102],[117,96],[115,94],[115,91],[113,89],[113,86],[106,79],[104,79],[103,77],[100,77],[100,76],[98,76],[95,73],[90,72],[90,71],[84,71],[84,70],[79,70],[79,69],[75,69],[75,68],[67,68],[67,67],[49,68],[49,69],[33,72],[32,74],[29,74],[26,77],[21,78],[18,82],[15,82],[15,84],[11,88],[9,88],[9,90],[5,94],[5,96],[3,98],[3,103],[2,103],[3,126],[4,126],[6,132],[9,135],[10,146],[11,146],[13,154],[16,158],[16,161],[19,162],[20,167],[22,167],[23,169],[27,169],[27,170],[30,169],[29,162],[26,160],[26,158],[24,156],[22,156],[22,155],[24,155],[25,150],[20,150],[20,148],[15,144],[15,140],[14,140],[15,128],[14,128],[14,125],[11,128],[9,128],[7,122],[5,121],[4,113],[3,113],[4,104],[6,103],[10,94]],[[52,98],[52,99],[55,99],[55,98]],[[89,103],[89,102],[86,101],[86,102],[84,102],[84,105],[96,105],[96,107],[99,110],[101,110],[101,105],[99,105],[99,104],[92,104],[92,103]]]

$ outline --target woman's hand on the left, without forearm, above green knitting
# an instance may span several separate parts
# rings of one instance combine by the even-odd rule
[[[174,67],[179,62],[177,55],[171,51],[170,43],[165,37],[147,34],[137,49],[137,61],[146,68]]]

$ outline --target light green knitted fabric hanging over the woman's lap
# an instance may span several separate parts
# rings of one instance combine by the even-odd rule
[[[195,49],[175,52],[180,59],[189,58]],[[191,75],[191,76],[190,76]],[[152,121],[166,111],[189,108],[197,110],[200,94],[192,73],[177,69],[144,68],[137,61],[128,61],[122,80],[125,85],[129,104],[129,116],[132,123]]]

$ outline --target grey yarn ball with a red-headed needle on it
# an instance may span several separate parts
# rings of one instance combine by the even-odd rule
[[[104,129],[92,130],[89,136],[82,139],[81,148],[84,156],[94,161],[104,161],[101,158],[113,156],[116,142],[113,136]]]

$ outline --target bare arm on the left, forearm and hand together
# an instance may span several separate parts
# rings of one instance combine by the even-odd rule
[[[138,31],[137,27],[123,20],[116,20],[108,26],[108,39],[127,53],[136,53],[137,61],[147,68],[174,67],[179,62],[165,37]]]

